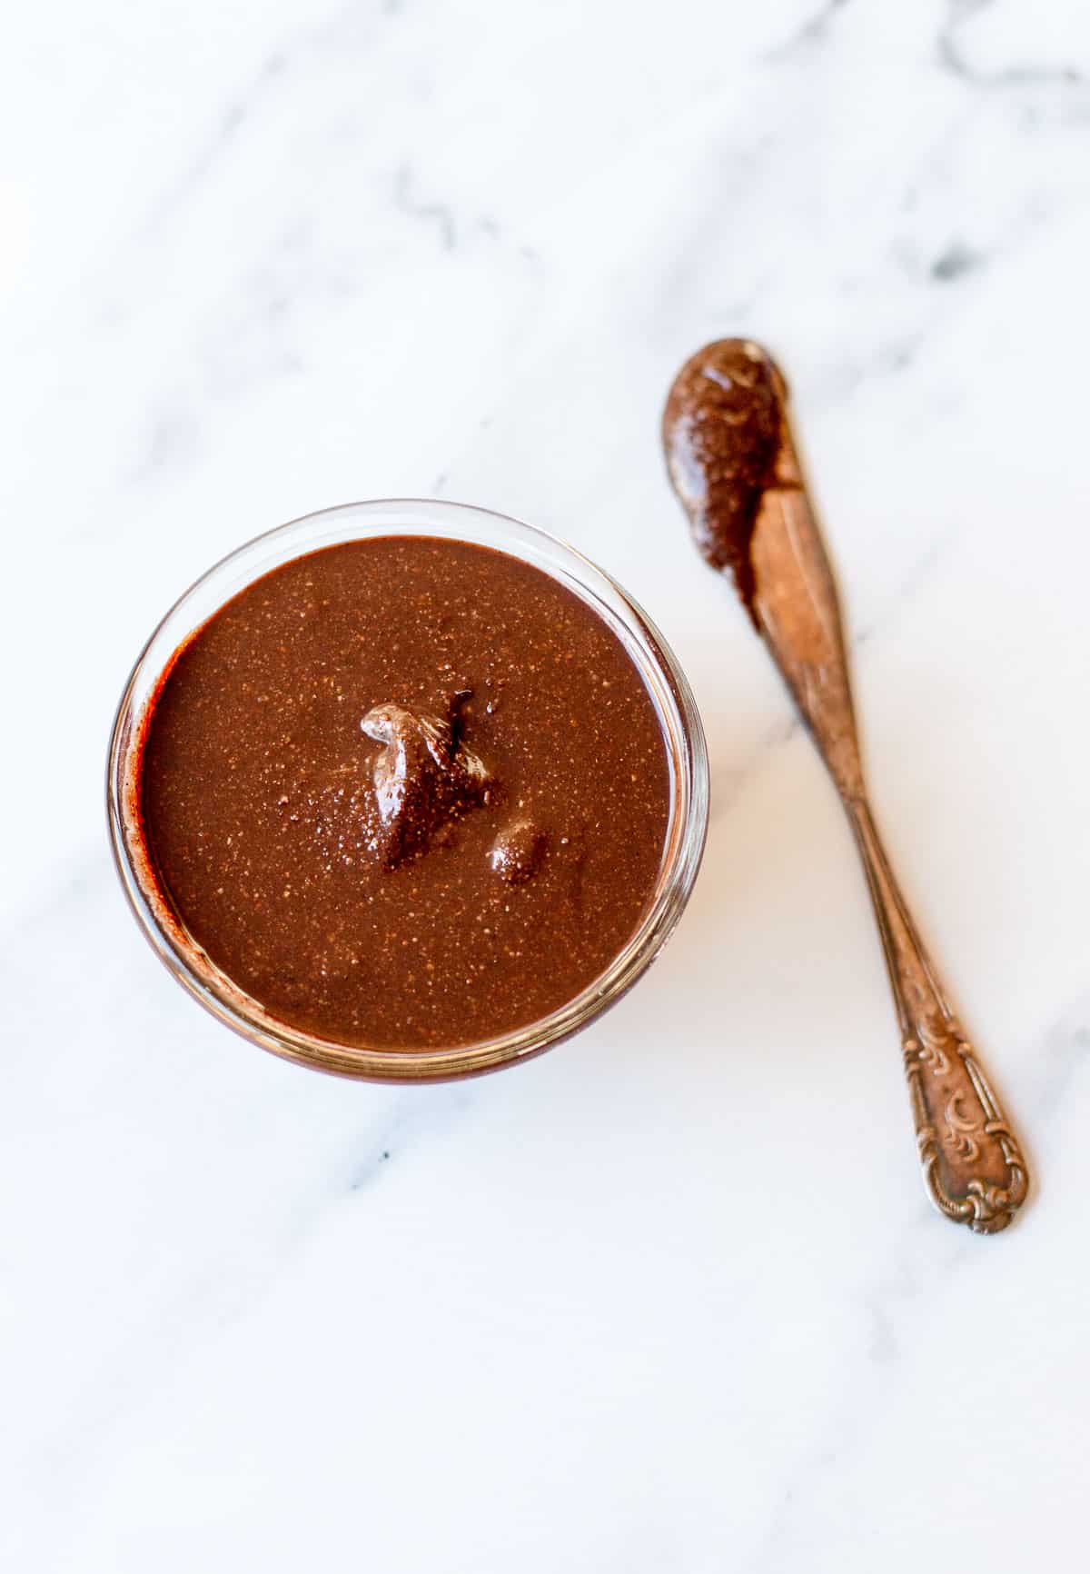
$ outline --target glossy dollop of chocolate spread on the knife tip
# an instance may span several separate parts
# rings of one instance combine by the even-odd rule
[[[749,338],[720,338],[678,373],[662,417],[670,480],[697,548],[730,568],[758,622],[750,546],[761,497],[775,485],[786,387],[771,356]]]

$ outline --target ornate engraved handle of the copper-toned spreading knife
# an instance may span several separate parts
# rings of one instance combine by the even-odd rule
[[[889,966],[923,1182],[947,1218],[1005,1229],[1029,1174],[1018,1141],[950,1011],[864,798],[848,803]]]

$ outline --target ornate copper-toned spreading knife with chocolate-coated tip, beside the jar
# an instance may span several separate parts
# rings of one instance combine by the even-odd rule
[[[708,345],[678,373],[662,420],[670,480],[708,562],[738,592],[826,762],[867,872],[889,966],[931,1201],[992,1234],[1029,1176],[947,1003],[882,850],[859,760],[837,589],[774,360],[750,340]]]

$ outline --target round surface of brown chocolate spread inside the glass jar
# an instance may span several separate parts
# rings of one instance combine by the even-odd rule
[[[574,998],[637,927],[670,782],[648,691],[577,595],[387,537],[299,557],[182,647],[145,722],[164,894],[283,1022],[470,1044]]]

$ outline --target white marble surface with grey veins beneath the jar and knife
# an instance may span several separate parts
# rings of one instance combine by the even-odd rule
[[[61,0],[0,85],[3,1566],[1076,1566],[1090,11]],[[992,1240],[922,1195],[848,833],[664,478],[676,365],[741,331],[791,376],[879,817],[1035,1165]],[[615,1012],[396,1091],[184,998],[101,781],[198,571],[420,493],[643,600],[714,815]]]

